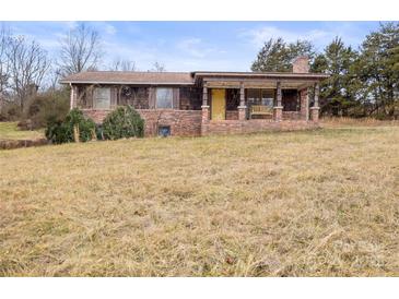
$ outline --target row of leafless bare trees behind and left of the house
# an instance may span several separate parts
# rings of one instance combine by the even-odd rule
[[[137,71],[134,61],[116,58],[104,67],[101,34],[86,23],[79,23],[59,40],[59,52],[50,59],[48,52],[34,39],[14,35],[10,28],[0,28],[0,112],[8,104],[22,113],[37,94],[62,89],[58,81],[82,71]],[[149,71],[165,71],[155,61]]]

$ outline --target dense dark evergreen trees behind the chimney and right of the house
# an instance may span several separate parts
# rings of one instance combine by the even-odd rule
[[[321,113],[399,118],[399,22],[382,23],[357,49],[336,37],[317,52],[309,40],[271,38],[259,50],[253,71],[285,72],[297,56],[308,56],[312,72],[330,77],[320,85]]]

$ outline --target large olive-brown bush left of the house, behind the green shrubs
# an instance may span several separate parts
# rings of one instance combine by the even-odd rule
[[[31,128],[44,128],[50,120],[63,120],[69,111],[69,91],[60,89],[39,94],[24,109],[21,124],[30,120]],[[23,128],[23,125],[22,125]]]

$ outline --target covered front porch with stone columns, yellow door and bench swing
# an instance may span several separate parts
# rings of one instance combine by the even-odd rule
[[[315,74],[203,75],[203,121],[317,122],[320,79]]]

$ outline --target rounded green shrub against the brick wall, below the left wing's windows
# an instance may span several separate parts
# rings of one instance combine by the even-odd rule
[[[144,120],[131,106],[120,106],[104,119],[102,129],[107,140],[142,137]]]

